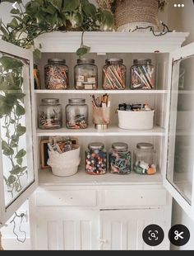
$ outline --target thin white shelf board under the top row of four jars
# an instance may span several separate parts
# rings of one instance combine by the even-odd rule
[[[36,94],[165,94],[167,90],[35,90]]]

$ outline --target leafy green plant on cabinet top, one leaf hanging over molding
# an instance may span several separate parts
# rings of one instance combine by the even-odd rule
[[[7,2],[15,2],[8,0]],[[24,48],[35,47],[35,38],[52,31],[104,31],[113,29],[113,14],[106,9],[96,8],[88,0],[32,0],[25,5],[17,1],[13,8],[12,21],[0,27],[2,40]],[[40,45],[41,48],[41,45]],[[76,54],[81,57],[89,52],[81,40]],[[36,55],[40,55],[38,49]]]

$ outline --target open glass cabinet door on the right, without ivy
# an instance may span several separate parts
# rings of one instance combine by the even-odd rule
[[[194,220],[194,43],[172,55],[164,186]]]

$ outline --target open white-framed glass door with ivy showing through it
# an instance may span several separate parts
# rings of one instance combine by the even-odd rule
[[[31,85],[33,55],[0,40],[0,226],[37,187]]]

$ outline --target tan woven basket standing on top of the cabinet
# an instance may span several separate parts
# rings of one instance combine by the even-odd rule
[[[158,0],[122,0],[115,10],[118,31],[128,31],[136,26],[159,26]]]

